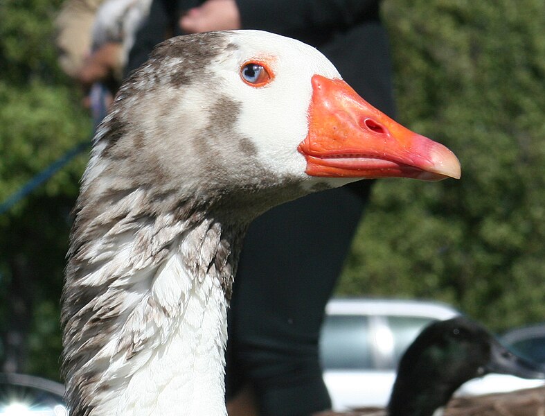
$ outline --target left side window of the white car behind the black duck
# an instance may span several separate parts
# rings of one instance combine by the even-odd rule
[[[327,315],[320,336],[324,370],[373,368],[368,318],[361,315]]]

